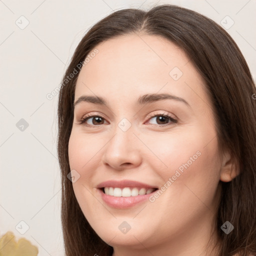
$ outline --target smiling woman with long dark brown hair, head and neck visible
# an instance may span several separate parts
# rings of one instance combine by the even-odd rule
[[[91,27],[58,101],[66,255],[254,255],[255,93],[235,42],[192,10]]]

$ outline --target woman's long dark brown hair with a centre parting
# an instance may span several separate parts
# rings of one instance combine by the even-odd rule
[[[214,110],[219,148],[230,150],[239,171],[230,182],[219,181],[221,198],[214,226],[221,240],[218,255],[256,254],[256,89],[249,68],[236,43],[214,21],[186,8],[161,4],[148,11],[121,9],[98,21],[81,39],[63,76],[58,98],[57,151],[66,256],[111,255],[113,251],[87,222],[67,178],[77,65],[99,42],[140,31],[175,43],[204,79]],[[67,81],[74,68],[78,73]],[[220,229],[226,220],[234,226],[228,235]]]

